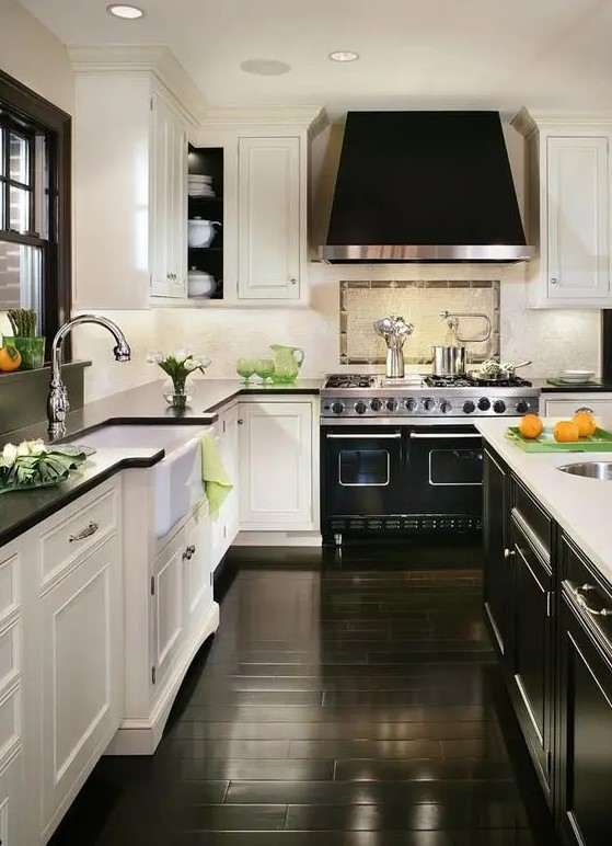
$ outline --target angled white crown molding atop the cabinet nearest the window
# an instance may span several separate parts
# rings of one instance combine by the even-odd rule
[[[206,99],[172,50],[163,45],[69,47],[76,73],[148,73],[177,100],[187,118],[198,125],[206,116]]]

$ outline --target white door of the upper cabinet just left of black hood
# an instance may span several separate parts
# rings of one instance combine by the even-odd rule
[[[241,299],[300,298],[300,139],[239,140]]]

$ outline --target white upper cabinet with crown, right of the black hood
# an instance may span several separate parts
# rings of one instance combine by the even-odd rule
[[[610,308],[612,116],[531,115],[513,125],[527,138],[528,265],[534,308]]]

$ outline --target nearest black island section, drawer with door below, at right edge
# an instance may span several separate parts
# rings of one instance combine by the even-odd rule
[[[612,592],[562,538],[557,819],[576,846],[612,843]]]

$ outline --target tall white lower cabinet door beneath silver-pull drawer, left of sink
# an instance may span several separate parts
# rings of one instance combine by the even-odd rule
[[[123,718],[120,550],[109,538],[41,599],[43,832]]]

